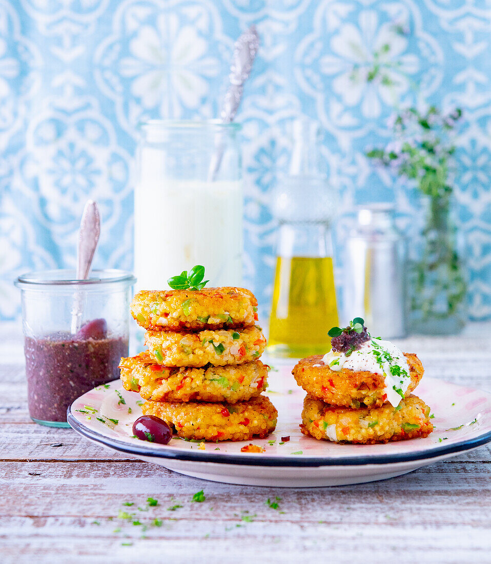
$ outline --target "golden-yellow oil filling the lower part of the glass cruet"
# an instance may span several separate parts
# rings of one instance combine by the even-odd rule
[[[303,357],[331,349],[338,325],[331,257],[277,257],[268,352]]]

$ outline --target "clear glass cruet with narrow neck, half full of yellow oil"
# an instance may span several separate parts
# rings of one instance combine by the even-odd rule
[[[268,352],[304,357],[331,348],[338,325],[331,217],[336,194],[320,169],[321,131],[306,118],[293,124],[289,174],[278,180],[279,222]]]

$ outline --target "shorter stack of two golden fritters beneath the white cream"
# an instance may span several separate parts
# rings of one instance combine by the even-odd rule
[[[359,444],[427,437],[433,430],[430,408],[411,394],[423,377],[423,365],[415,354],[404,356],[410,383],[397,407],[387,402],[381,373],[349,368],[333,371],[322,355],[300,360],[292,373],[307,391],[302,433],[315,439]]]

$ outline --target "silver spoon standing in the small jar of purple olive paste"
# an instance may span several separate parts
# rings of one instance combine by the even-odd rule
[[[82,220],[78,230],[77,280],[87,280],[90,275],[92,259],[99,242],[100,217],[99,208],[94,200],[87,200],[83,208]],[[76,293],[72,307],[72,324],[70,331],[77,333],[82,324],[82,298]]]

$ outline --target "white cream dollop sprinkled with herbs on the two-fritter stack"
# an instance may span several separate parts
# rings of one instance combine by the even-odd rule
[[[382,373],[385,379],[384,392],[393,407],[399,406],[411,381],[409,365],[401,349],[379,338],[371,338],[349,356],[344,352],[329,351],[322,360],[337,372],[342,368],[351,368],[354,371]]]

